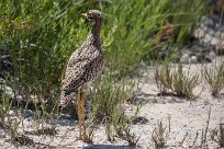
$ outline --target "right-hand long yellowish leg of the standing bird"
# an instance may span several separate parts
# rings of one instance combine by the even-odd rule
[[[86,85],[82,89],[82,94],[81,94],[81,107],[82,107],[82,126],[83,126],[83,141],[88,141],[87,135],[86,135],[86,124],[85,124],[85,100],[87,98],[88,93],[88,87]]]

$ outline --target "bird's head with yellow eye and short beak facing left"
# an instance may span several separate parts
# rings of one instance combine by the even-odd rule
[[[89,22],[94,24],[100,24],[102,23],[102,14],[99,10],[89,10],[87,13],[82,13],[82,16],[85,16]]]

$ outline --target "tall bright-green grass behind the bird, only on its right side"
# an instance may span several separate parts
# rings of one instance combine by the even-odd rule
[[[113,1],[105,10],[107,21],[116,25],[113,43],[107,48],[108,65],[124,74],[132,72],[141,60],[152,59],[159,46],[157,36],[166,32],[166,22],[176,31],[168,41],[179,43],[191,32],[203,12],[203,5],[201,0]],[[104,31],[111,28],[110,24],[105,24]]]

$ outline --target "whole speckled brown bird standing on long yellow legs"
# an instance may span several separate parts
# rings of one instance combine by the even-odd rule
[[[87,141],[85,125],[85,99],[88,85],[101,74],[104,68],[104,54],[101,50],[100,31],[102,14],[98,10],[83,13],[91,22],[91,31],[86,42],[71,54],[63,80],[60,105],[65,106],[72,98],[78,102],[79,139]],[[83,129],[83,131],[82,131]]]

